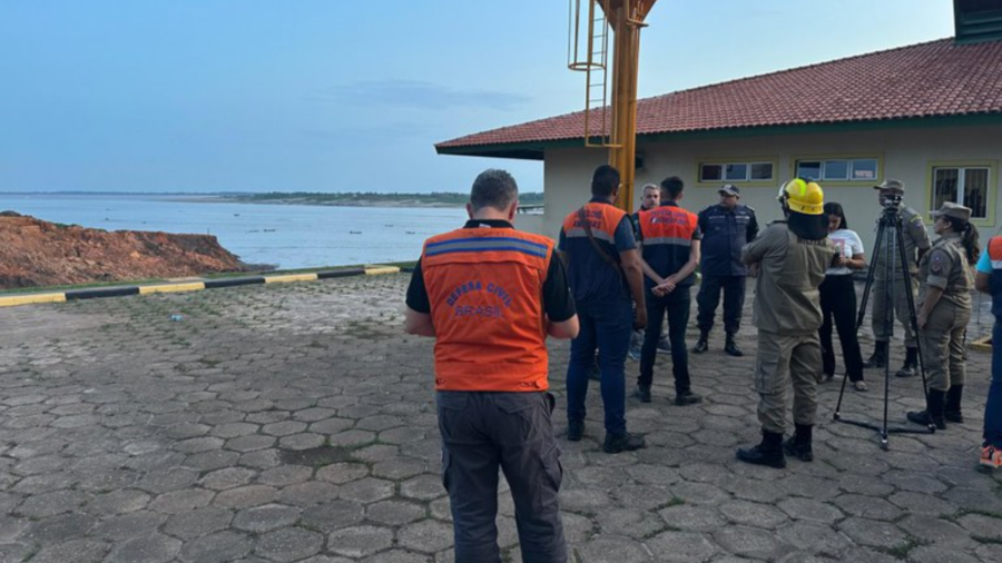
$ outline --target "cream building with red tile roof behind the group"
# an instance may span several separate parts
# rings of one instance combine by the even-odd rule
[[[873,186],[905,182],[905,203],[943,201],[999,226],[1002,10],[956,0],[957,36],[642,99],[636,187],[681,177],[685,207],[716,203],[734,184],[760,219],[779,218],[776,188],[817,179],[867,245],[880,214]],[[805,87],[809,85],[809,87]],[[589,197],[606,151],[584,148],[584,112],[501,127],[435,145],[442,155],[542,160],[546,206],[522,228],[556,236]],[[640,194],[641,190],[636,190]],[[635,203],[636,205],[636,203]],[[764,223],[764,221],[760,221]]]

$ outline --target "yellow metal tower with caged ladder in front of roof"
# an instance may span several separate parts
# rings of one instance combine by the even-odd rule
[[[637,158],[640,28],[657,0],[569,0],[568,68],[586,73],[584,146],[609,149],[622,189],[617,207],[632,211]],[[609,36],[612,92],[609,103]]]

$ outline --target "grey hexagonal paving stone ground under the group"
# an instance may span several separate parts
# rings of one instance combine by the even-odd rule
[[[431,340],[401,329],[407,280],[0,309],[0,562],[452,561]],[[586,439],[563,439],[568,345],[551,343],[573,560],[1002,561],[1002,476],[976,467],[988,355],[970,354],[965,424],[894,434],[886,452],[832,421],[838,384],[823,385],[817,460],[776,471],[734,458],[758,438],[745,318],[746,357],[719,334],[690,356],[701,405],[674,406],[659,356],[654,403],[627,405],[650,447],[621,455],[599,451],[597,388]],[[867,377],[844,417],[880,418]],[[920,382],[891,386],[900,424]],[[500,506],[505,561],[521,561],[507,492]]]

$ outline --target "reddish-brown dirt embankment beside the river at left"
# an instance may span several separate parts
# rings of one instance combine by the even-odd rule
[[[0,289],[247,269],[208,235],[107,233],[0,213]]]

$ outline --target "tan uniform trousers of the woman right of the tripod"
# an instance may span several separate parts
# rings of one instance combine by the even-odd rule
[[[971,310],[951,302],[940,299],[933,307],[918,332],[929,388],[945,392],[964,384],[964,330],[970,320]]]

